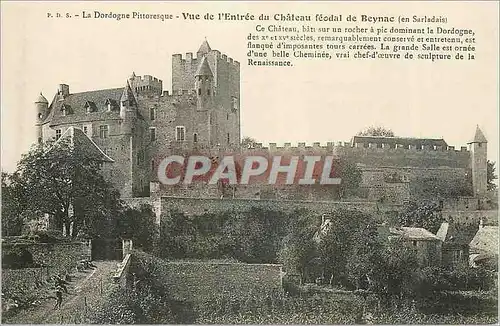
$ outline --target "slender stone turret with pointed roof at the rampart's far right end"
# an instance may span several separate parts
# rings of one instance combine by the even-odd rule
[[[488,165],[488,141],[484,137],[483,132],[476,127],[474,139],[469,142],[471,151],[471,168],[472,168],[472,189],[474,196],[482,197],[487,191],[487,165]]]

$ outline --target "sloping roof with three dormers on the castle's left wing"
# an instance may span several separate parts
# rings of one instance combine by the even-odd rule
[[[66,123],[120,119],[119,103],[123,90],[121,87],[75,93],[68,95],[62,101],[56,96],[50,105],[50,113],[45,122],[50,122],[52,127]],[[108,102],[113,105],[112,111],[108,111]],[[64,116],[61,111],[63,105],[69,107],[72,113]],[[93,107],[94,112],[87,113],[86,106],[89,105]]]

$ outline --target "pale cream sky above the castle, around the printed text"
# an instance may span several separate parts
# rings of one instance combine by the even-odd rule
[[[474,61],[297,61],[292,68],[248,66],[255,22],[49,19],[93,12],[326,13],[443,15],[473,28]],[[368,126],[398,136],[444,138],[466,146],[479,125],[488,158],[498,156],[498,3],[2,3],[2,169],[12,171],[35,141],[34,101],[52,100],[58,84],[71,93],[122,87],[132,72],[171,87],[172,54],[212,49],[241,62],[242,136],[264,144],[349,141]],[[285,25],[285,24],[284,24]]]

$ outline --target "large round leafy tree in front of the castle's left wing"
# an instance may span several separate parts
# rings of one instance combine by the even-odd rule
[[[64,225],[70,230],[72,225],[72,236],[80,229],[87,234],[107,231],[105,222],[120,211],[122,203],[101,175],[101,163],[97,153],[75,147],[69,140],[35,146],[23,155],[15,172],[25,213],[31,218],[47,213],[58,229]]]

